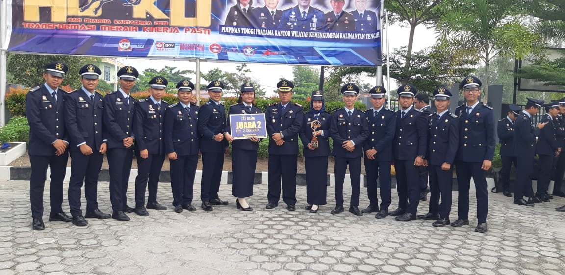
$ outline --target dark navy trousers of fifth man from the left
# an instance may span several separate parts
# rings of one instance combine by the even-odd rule
[[[177,156],[176,160],[169,159],[169,164],[171,166],[173,206],[192,204],[198,154]]]

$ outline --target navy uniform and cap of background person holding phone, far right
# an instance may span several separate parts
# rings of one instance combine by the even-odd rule
[[[537,167],[538,177],[536,184],[535,196],[541,200],[549,203],[549,195],[547,189],[551,181],[551,170],[553,169],[553,159],[555,155],[561,151],[561,144],[557,141],[557,131],[559,127],[554,124],[554,118],[549,114],[550,109],[559,111],[559,104],[557,102],[549,102],[544,104],[546,114],[541,119],[541,123],[547,123],[544,128],[540,130],[537,137],[536,154],[538,156]]]

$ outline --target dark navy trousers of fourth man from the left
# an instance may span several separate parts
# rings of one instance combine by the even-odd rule
[[[159,189],[159,176],[165,161],[164,154],[149,154],[142,158],[136,151],[137,177],[136,177],[136,207],[145,205],[145,189],[149,186],[147,203],[157,203],[157,190]]]

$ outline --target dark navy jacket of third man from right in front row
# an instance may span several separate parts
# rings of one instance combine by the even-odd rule
[[[393,153],[396,160],[415,160],[425,156],[428,150],[428,117],[414,106],[401,118],[402,110],[396,112],[396,133]]]

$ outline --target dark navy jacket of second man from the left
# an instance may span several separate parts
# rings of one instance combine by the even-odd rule
[[[78,89],[65,97],[65,127],[69,136],[69,150],[80,152],[77,145],[86,143],[97,152],[102,144],[102,118],[104,105],[102,94],[94,93],[90,101],[84,90]]]

